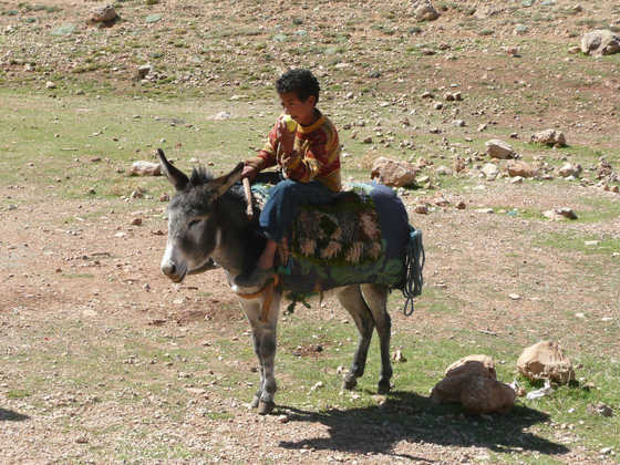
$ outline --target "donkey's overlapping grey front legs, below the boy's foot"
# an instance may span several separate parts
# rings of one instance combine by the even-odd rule
[[[275,376],[276,340],[278,313],[280,309],[280,292],[273,290],[271,304],[264,309],[264,299],[259,296],[252,300],[242,300],[241,306],[252,328],[254,350],[260,364],[260,386],[255,394],[252,407],[258,406],[258,413],[271,413],[277,384]]]

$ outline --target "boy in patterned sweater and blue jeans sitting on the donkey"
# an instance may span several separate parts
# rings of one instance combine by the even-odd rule
[[[327,204],[341,190],[340,142],[334,125],[318,108],[317,78],[302,69],[286,72],[276,82],[285,115],[279,117],[265,147],[245,162],[241,176],[278,165],[285,179],[278,183],[259,217],[267,245],[256,266],[235,278],[239,287],[257,287],[273,277],[278,242],[301,204]],[[292,120],[292,121],[291,121]]]

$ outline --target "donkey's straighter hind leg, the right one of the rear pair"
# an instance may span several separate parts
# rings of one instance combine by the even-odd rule
[[[390,379],[392,378],[392,361],[390,360],[390,337],[392,320],[388,314],[388,288],[382,285],[362,285],[364,300],[370,307],[379,343],[381,347],[381,375],[379,378],[379,393],[385,394],[390,391]]]

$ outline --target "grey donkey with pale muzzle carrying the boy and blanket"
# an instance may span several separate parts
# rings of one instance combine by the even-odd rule
[[[188,177],[166,159],[162,149],[157,152],[162,170],[176,190],[167,207],[168,238],[162,272],[174,282],[182,282],[187,275],[210,269],[213,261],[225,270],[251,326],[254,349],[260,365],[260,385],[251,405],[258,407],[259,414],[268,414],[276,405],[276,333],[282,292],[287,289],[273,282],[264,289],[241,289],[234,283],[238,273],[249,264],[256,264],[265,245],[265,239],[256,234],[256,218],[248,219],[246,215],[247,202],[242,190],[238,185],[231,188],[239,182],[244,164],[239,163],[220,177],[214,177],[203,168],[194,168]],[[391,319],[386,310],[389,286],[368,282],[339,287],[334,291],[353,318],[360,335],[353,362],[344,375],[343,389],[352,390],[363,374],[371,337],[376,328],[381,348],[378,390],[389,392],[392,376]]]

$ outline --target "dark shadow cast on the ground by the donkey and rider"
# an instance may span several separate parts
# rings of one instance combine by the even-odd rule
[[[461,415],[459,406],[436,405],[430,397],[410,392],[392,392],[383,405],[323,412],[280,406],[279,411],[286,413],[290,422],[314,422],[329,427],[329,437],[280,443],[280,446],[291,450],[311,447],[360,454],[393,454],[399,442],[407,441],[443,446],[479,446],[497,453],[536,451],[558,455],[569,452],[561,444],[525,432],[524,428],[547,421],[549,415],[524,406],[515,406],[507,415],[464,416]]]

